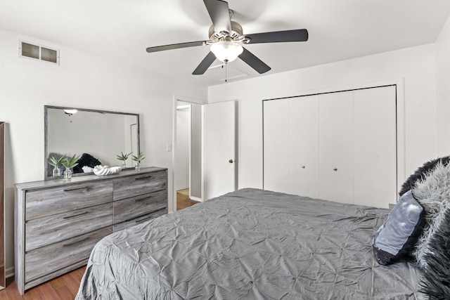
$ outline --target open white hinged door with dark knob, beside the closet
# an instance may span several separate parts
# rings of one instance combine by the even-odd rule
[[[236,190],[236,104],[203,105],[205,200]]]

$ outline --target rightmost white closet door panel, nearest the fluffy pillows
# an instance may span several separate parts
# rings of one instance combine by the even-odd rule
[[[354,91],[354,201],[389,207],[397,199],[395,86]]]

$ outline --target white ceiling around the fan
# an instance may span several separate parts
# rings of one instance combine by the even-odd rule
[[[450,15],[449,0],[228,2],[244,34],[309,31],[306,42],[245,46],[271,67],[266,74],[433,43]],[[1,29],[203,86],[221,83],[220,70],[225,72],[191,74],[208,46],[158,53],[146,47],[207,40],[210,25],[202,0],[0,0]],[[264,76],[239,59],[230,65],[230,80]]]

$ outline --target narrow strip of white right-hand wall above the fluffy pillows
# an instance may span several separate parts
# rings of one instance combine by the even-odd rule
[[[450,155],[450,17],[436,40],[437,154]]]

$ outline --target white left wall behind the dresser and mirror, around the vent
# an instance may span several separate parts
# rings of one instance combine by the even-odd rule
[[[18,40],[60,49],[60,65],[18,56]],[[14,183],[44,178],[44,105],[140,114],[142,167],[169,169],[173,97],[205,99],[205,89],[149,70],[0,30],[0,120],[6,124],[6,268],[13,259]],[[169,193],[169,211],[173,211]]]

